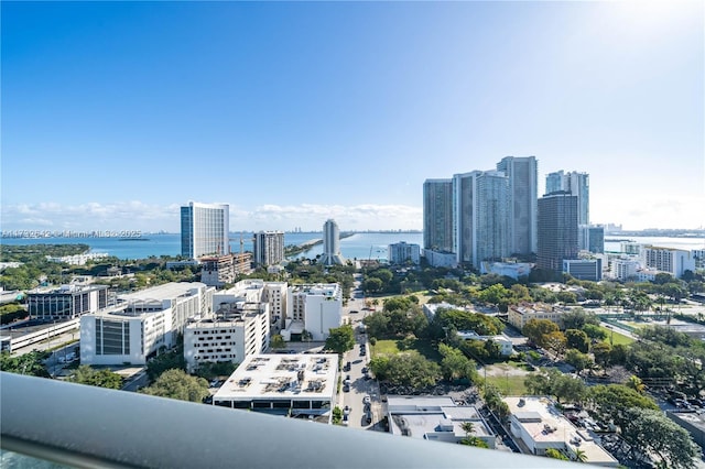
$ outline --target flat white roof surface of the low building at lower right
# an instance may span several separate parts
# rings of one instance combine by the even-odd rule
[[[549,397],[510,396],[503,401],[512,417],[536,444],[564,444],[573,452],[576,449],[584,451],[587,463],[617,466],[617,460],[595,443],[587,430],[576,428],[565,418]]]

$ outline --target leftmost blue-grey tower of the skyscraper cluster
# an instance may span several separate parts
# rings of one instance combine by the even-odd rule
[[[423,249],[453,252],[453,179],[423,183]]]

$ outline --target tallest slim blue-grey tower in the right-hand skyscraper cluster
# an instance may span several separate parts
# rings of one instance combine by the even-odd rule
[[[497,171],[509,179],[509,251],[536,252],[536,159],[507,156],[497,163]]]

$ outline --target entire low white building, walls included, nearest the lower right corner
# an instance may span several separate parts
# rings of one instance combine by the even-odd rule
[[[595,443],[585,429],[576,428],[555,408],[547,397],[503,397],[509,406],[511,434],[521,439],[529,452],[544,456],[553,448],[575,460],[581,450],[585,462],[592,466],[618,467],[619,462],[605,448]]]

